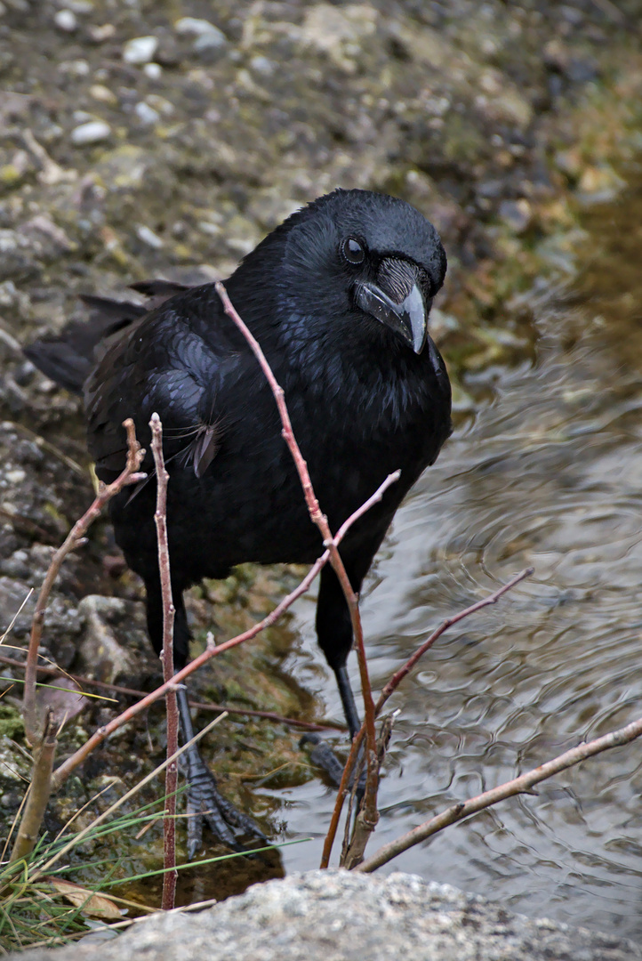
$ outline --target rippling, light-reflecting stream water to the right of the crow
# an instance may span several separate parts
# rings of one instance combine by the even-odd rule
[[[445,615],[527,565],[535,577],[446,634],[395,696],[402,713],[370,850],[642,713],[639,223],[642,181],[586,216],[590,264],[573,303],[535,310],[535,363],[502,375],[397,515],[363,603],[378,688]],[[312,602],[297,616],[312,642]],[[329,678],[323,693],[340,717]],[[634,743],[387,870],[639,940],[641,794]],[[319,781],[279,797],[288,833],[322,836],[333,795]],[[283,854],[289,871],[318,859],[312,845]]]

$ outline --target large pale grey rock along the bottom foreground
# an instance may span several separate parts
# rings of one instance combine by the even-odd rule
[[[198,915],[157,915],[107,943],[17,961],[633,961],[642,948],[416,875],[311,871],[256,884]]]

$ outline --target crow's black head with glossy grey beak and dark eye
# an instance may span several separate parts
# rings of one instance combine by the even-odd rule
[[[446,255],[433,225],[409,204],[335,190],[297,210],[249,259],[268,250],[278,254],[270,273],[281,316],[298,325],[298,335],[304,327],[318,336],[332,325],[342,338],[363,342],[383,325],[422,351]]]

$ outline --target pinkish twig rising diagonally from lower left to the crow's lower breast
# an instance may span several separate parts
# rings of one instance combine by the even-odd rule
[[[394,480],[396,480],[394,475],[386,478],[386,480],[384,480],[383,483],[378,487],[372,497],[369,498],[369,504],[375,504],[377,500],[380,500],[384,491],[391,485],[391,483],[394,482]],[[340,533],[337,533],[337,535],[333,538],[333,544],[335,546],[341,543],[341,540],[343,537],[345,537],[347,530],[349,530],[351,524],[354,523],[354,520],[357,520],[358,516],[360,516],[359,511],[356,510],[354,514],[352,514],[352,516],[345,521],[345,524],[341,529],[341,536]],[[198,669],[202,667],[202,665],[205,664],[210,657],[216,657],[218,654],[224,653],[224,651],[229,651],[231,648],[235,648],[239,644],[243,644],[245,641],[251,640],[252,637],[255,637],[265,628],[272,627],[274,622],[278,620],[281,614],[287,610],[288,607],[294,604],[295,601],[297,601],[297,598],[301,597],[302,594],[305,594],[310,587],[310,584],[317,577],[321,571],[321,568],[327,563],[329,558],[330,551],[327,549],[323,554],[321,554],[321,557],[315,561],[297,587],[290,594],[288,594],[287,597],[283,598],[283,600],[277,604],[273,610],[263,618],[262,621],[259,621],[253,627],[245,630],[242,634],[232,637],[229,641],[224,641],[223,644],[218,644],[216,647],[208,647],[205,651],[203,651],[202,654],[199,654],[198,657],[195,657],[189,662],[189,664],[178,671],[171,681],[162,683],[155,689],[155,691],[152,691],[151,694],[146,695],[135,704],[131,704],[127,710],[123,711],[122,714],[119,714],[118,717],[114,718],[112,721],[109,721],[107,725],[104,727],[99,727],[98,730],[92,734],[89,740],[85,741],[83,747],[79,748],[79,750],[72,754],[71,757],[68,757],[54,772],[54,775],[52,776],[52,790],[57,791],[60,785],[63,784],[66,778],[71,774],[71,772],[75,771],[79,764],[82,764],[83,761],[94,750],[94,748],[98,747],[99,744],[102,744],[109,734],[112,734],[118,729],[118,727],[122,727],[124,724],[127,724],[127,722],[131,721],[131,718],[135,717],[136,714],[140,714],[141,711],[146,710],[151,704],[157,701],[158,698],[162,698],[170,686],[180,684],[185,678],[188,678],[195,671],[198,671]]]

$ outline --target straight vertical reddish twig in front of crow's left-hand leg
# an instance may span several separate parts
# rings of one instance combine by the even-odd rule
[[[163,605],[163,663],[165,683],[174,679],[174,615],[172,579],[170,576],[170,551],[167,540],[167,483],[170,479],[163,458],[163,428],[158,414],[152,414],[152,454],[156,469],[156,510],[154,515],[158,540],[158,571]],[[178,751],[178,703],[176,689],[170,687],[165,694],[167,712],[167,756]],[[165,816],[163,818],[164,867],[161,907],[170,911],[176,900],[176,813],[177,813],[178,765],[176,761],[165,768]]]

